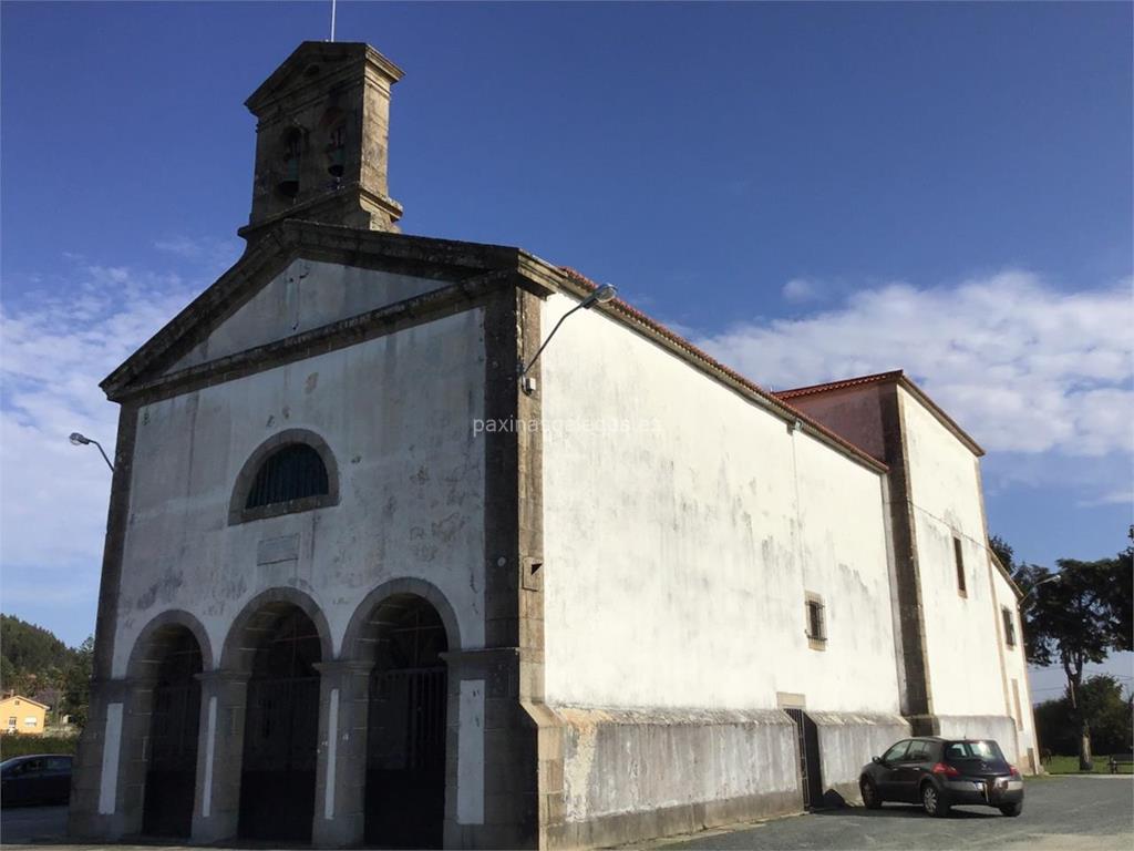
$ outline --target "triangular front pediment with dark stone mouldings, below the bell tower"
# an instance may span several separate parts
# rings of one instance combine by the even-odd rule
[[[103,382],[112,399],[530,263],[518,248],[284,222]]]

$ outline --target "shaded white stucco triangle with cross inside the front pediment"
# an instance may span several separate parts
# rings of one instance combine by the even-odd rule
[[[171,371],[303,334],[443,285],[429,278],[296,260],[213,329]]]

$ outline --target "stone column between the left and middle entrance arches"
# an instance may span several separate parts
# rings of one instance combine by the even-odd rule
[[[248,674],[206,671],[201,681],[193,842],[234,839],[240,824],[240,770]]]

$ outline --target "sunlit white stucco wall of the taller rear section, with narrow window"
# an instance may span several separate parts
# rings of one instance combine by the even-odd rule
[[[940,716],[1007,715],[997,644],[984,515],[976,457],[904,388],[914,540],[924,607],[932,711]],[[965,596],[957,590],[954,536],[960,539]]]

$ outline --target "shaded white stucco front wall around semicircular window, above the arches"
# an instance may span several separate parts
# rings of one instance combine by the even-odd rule
[[[115,675],[164,609],[200,618],[219,663],[231,620],[272,587],[310,593],[338,651],[371,589],[425,579],[457,613],[464,647],[483,646],[484,453],[471,428],[483,396],[473,310],[143,407]],[[294,428],[333,452],[339,504],[229,525],[240,467]],[[297,557],[257,564],[262,541],[287,536]]]

